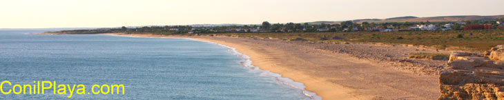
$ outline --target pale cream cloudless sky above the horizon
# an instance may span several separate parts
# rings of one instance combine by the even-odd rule
[[[502,14],[504,0],[0,0],[0,28],[302,23]]]

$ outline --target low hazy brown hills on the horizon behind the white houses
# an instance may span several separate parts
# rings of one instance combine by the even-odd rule
[[[356,23],[362,23],[367,21],[369,23],[386,23],[386,22],[418,22],[418,21],[467,21],[467,20],[494,20],[504,18],[504,15],[495,15],[495,16],[477,16],[477,15],[469,15],[469,16],[445,16],[445,17],[393,17],[388,19],[355,19],[352,20]],[[310,24],[320,24],[320,23],[340,23],[342,21],[315,21],[309,22]]]

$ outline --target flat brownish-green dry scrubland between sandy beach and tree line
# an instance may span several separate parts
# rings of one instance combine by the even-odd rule
[[[463,37],[458,37],[461,34]],[[473,52],[489,50],[504,44],[504,30],[450,30],[405,32],[273,32],[220,33],[217,35],[304,41],[347,41],[353,43],[399,43],[432,46],[439,49],[457,48]]]

